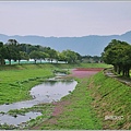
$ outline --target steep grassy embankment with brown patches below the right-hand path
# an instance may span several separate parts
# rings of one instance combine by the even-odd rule
[[[131,129],[131,87],[117,80],[105,76],[102,72],[90,80],[93,106],[103,121],[104,129]],[[108,119],[116,116],[123,119]]]

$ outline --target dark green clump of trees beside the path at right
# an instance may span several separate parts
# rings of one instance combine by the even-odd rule
[[[131,68],[131,45],[126,41],[112,39],[102,53],[106,63],[112,64],[115,72],[130,76]]]

